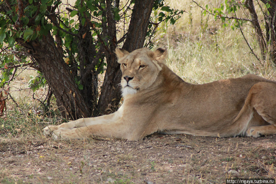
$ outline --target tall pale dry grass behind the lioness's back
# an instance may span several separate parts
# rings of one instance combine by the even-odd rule
[[[202,6],[206,2],[199,1]],[[220,4],[221,2],[208,2]],[[186,10],[175,25],[163,24],[155,37],[157,46],[169,49],[167,65],[192,83],[206,83],[248,73],[268,79],[276,78],[271,62],[260,62],[250,52],[240,30],[223,27],[220,20],[203,16],[202,10],[190,1],[171,1],[169,6]],[[259,53],[254,29],[244,25],[243,31],[254,49]]]

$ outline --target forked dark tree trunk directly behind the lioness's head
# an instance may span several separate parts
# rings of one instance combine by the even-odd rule
[[[123,48],[129,52],[142,48],[145,42],[150,14],[153,8],[154,0],[135,1],[131,14],[130,25]],[[117,57],[114,53],[116,49],[116,26],[113,16],[111,16],[111,3],[106,0],[107,5],[107,33],[111,37],[109,45],[110,52],[105,53],[107,58],[107,70],[104,76],[104,82],[101,90],[101,96],[98,102],[98,109],[101,114],[109,113],[118,108],[121,99],[119,84],[121,82],[120,65],[117,63]]]

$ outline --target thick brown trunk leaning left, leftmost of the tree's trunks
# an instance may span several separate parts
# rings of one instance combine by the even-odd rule
[[[43,36],[33,41],[26,42],[16,40],[25,48],[37,61],[43,76],[47,80],[56,103],[63,117],[78,119],[90,117],[91,109],[84,100],[79,89],[70,74],[70,70],[63,60],[62,53],[58,52],[55,42],[50,35]]]

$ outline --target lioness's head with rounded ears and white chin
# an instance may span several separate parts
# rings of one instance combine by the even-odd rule
[[[154,52],[142,48],[131,53],[116,49],[122,70],[122,96],[149,88],[161,71],[161,63],[165,60],[166,54],[166,48],[159,48]]]

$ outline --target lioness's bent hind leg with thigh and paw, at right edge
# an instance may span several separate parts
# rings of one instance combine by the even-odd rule
[[[250,92],[250,104],[254,112],[262,117],[266,125],[250,123],[246,131],[247,136],[259,137],[261,135],[276,134],[276,84],[260,82],[255,84]]]

